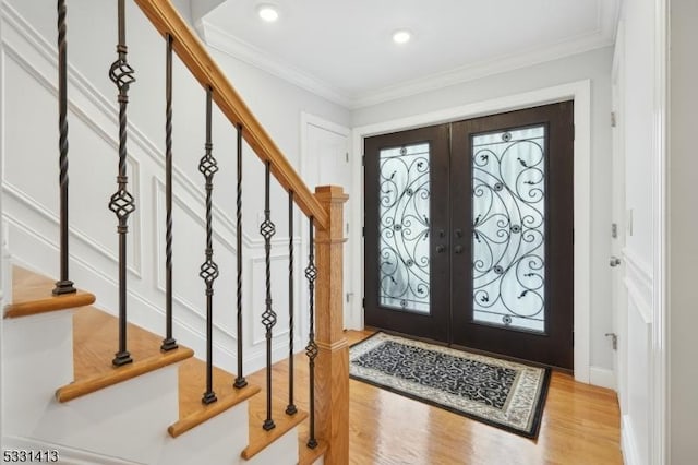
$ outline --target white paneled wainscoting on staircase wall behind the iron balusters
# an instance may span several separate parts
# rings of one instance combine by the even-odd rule
[[[12,116],[3,117],[0,128],[4,165],[2,218],[8,225],[9,249],[15,263],[56,276],[59,240],[56,49],[4,2],[0,3],[0,21],[2,107],[4,116]],[[143,37],[139,37],[137,31],[130,34],[134,40],[159,40],[153,34]],[[157,47],[159,45],[158,41]],[[153,44],[139,46],[155,47]],[[104,57],[105,79],[108,79],[106,70],[112,59]],[[183,92],[181,88],[176,88],[176,94]],[[115,95],[103,95],[69,63],[71,278],[79,287],[96,294],[97,307],[111,313],[116,313],[118,305],[117,219],[108,210],[109,198],[117,189]],[[132,110],[139,111],[136,102],[130,105]],[[220,171],[214,179],[214,260],[219,265],[220,276],[214,295],[214,360],[222,368],[233,370],[237,350],[234,130],[220,115],[216,114],[215,120],[214,155],[219,158]],[[180,130],[177,133],[179,143],[185,139],[185,145],[191,145],[191,138],[198,132],[203,132],[203,120],[202,131]],[[146,134],[133,122],[129,123],[129,191],[136,201],[136,211],[129,219],[128,236],[129,319],[158,334],[165,327],[165,155],[160,148],[163,144],[153,141],[163,141],[164,136],[164,133]],[[178,140],[174,142],[177,144]],[[203,139],[201,144],[195,142],[194,145],[201,146],[201,151],[176,151],[174,158],[173,312],[174,337],[192,347],[197,357],[203,357],[205,294],[198,271],[204,261],[205,205],[203,177],[197,176],[195,168],[204,153]],[[246,145],[245,157],[251,168],[258,165],[250,162],[253,154]],[[257,178],[249,179],[244,191],[245,218],[258,214],[249,205],[258,205],[260,184]],[[286,227],[286,203],[279,201],[284,192],[278,187],[273,191],[275,220],[281,233]],[[302,226],[305,227],[305,223]],[[245,372],[262,368],[265,361],[261,323],[265,299],[264,242],[256,234],[257,227],[248,222],[242,241]],[[306,334],[302,325],[308,324],[304,317],[308,306],[301,309],[300,302],[306,300],[306,282],[302,275],[306,255],[301,253],[304,247],[300,238],[296,242],[296,348],[302,350],[301,341]],[[274,331],[276,360],[288,351],[288,238],[277,234],[273,247],[273,298],[278,313]]]

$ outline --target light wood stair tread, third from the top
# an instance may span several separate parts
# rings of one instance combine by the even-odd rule
[[[220,368],[213,368],[213,390],[218,401],[202,404],[206,391],[206,362],[196,358],[179,366],[179,420],[168,428],[172,438],[189,431],[209,418],[226,412],[260,392],[256,385],[233,388],[236,377]]]

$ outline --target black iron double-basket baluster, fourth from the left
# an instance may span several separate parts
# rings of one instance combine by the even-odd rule
[[[206,392],[201,402],[210,404],[216,402],[216,393],[213,390],[213,300],[214,300],[214,281],[218,277],[218,265],[214,262],[213,246],[213,190],[214,175],[218,171],[218,162],[213,156],[214,145],[210,138],[210,117],[212,117],[212,95],[213,90],[206,88],[206,145],[205,154],[198,164],[198,170],[206,179],[206,261],[201,265],[198,275],[206,283]]]

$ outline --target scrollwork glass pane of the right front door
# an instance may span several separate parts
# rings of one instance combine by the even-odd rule
[[[476,322],[545,330],[545,127],[472,138]]]

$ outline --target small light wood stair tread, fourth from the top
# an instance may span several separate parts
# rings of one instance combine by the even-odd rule
[[[242,458],[250,460],[274,441],[300,425],[308,413],[298,410],[294,415],[286,415],[286,403],[272,403],[272,419],[276,428],[265,431],[262,428],[266,419],[266,394],[255,395],[250,400],[250,444],[242,451]]]

